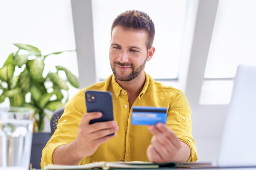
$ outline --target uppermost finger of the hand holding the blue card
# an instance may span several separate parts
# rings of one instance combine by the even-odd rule
[[[165,133],[175,147],[181,147],[180,139],[177,137],[174,131],[172,131],[172,129],[168,128],[166,125],[160,122],[157,123],[156,128],[158,128],[158,130],[161,131],[162,133]]]

